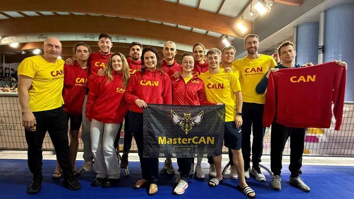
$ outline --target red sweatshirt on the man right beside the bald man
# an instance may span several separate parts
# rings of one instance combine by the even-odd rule
[[[70,115],[81,115],[84,103],[88,68],[74,61],[74,65],[64,65],[63,109]]]

